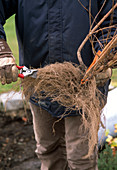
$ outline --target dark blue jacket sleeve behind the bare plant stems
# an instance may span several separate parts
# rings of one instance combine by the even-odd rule
[[[99,0],[98,1],[98,8],[100,10],[100,8],[103,5],[104,0]],[[112,0],[107,0],[106,4],[104,5],[102,11],[99,14],[99,20],[101,20],[106,14],[107,12],[112,8]],[[114,4],[117,3],[116,0],[114,0]],[[100,31],[98,34],[96,34],[96,37],[98,38],[98,40],[101,42],[102,46],[104,47],[107,42],[109,42],[112,39],[112,36],[115,35],[115,33],[117,33],[117,8],[114,10],[114,12],[112,14],[110,14],[110,16],[101,24],[101,28],[105,28],[105,27],[109,27],[109,26],[114,26],[111,29],[103,29],[103,31]],[[100,29],[100,28],[99,28]],[[99,42],[96,41],[95,43],[95,50],[101,50],[102,46]]]

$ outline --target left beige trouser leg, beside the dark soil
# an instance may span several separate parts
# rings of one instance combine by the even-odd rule
[[[64,120],[55,124],[54,134],[52,126],[57,119],[34,104],[30,107],[41,170],[67,170]]]

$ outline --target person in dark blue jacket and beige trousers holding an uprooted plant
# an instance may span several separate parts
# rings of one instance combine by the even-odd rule
[[[16,33],[19,45],[19,64],[40,68],[55,62],[70,61],[79,64],[77,49],[90,30],[89,9],[91,2],[91,18],[94,25],[111,9],[116,0],[0,0],[0,81],[9,84],[17,80],[18,70],[13,54],[6,42],[4,32],[5,21],[15,14]],[[113,3],[112,3],[113,2]],[[82,3],[82,4],[81,4]],[[92,20],[91,19],[91,20]],[[108,27],[110,17],[101,25]],[[113,25],[117,24],[117,9],[113,13]],[[112,28],[110,35],[114,35]],[[107,37],[107,31],[98,33],[97,38]],[[101,50],[99,41],[94,43],[95,51]],[[103,46],[103,43],[102,43]],[[93,58],[90,41],[82,49],[82,59],[88,67]],[[107,96],[110,76],[100,88]],[[103,78],[102,78],[103,79]],[[40,106],[41,105],[41,106]],[[37,142],[36,153],[41,160],[42,170],[94,170],[97,167],[97,147],[90,158],[82,159],[88,152],[88,143],[79,140],[82,124],[80,115],[58,120],[56,113],[62,108],[49,101],[39,103],[30,99],[33,115],[33,126]]]

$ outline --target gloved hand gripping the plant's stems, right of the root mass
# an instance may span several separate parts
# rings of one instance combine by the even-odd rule
[[[96,84],[97,87],[104,86],[107,80],[109,80],[112,76],[112,69],[108,68],[106,71],[102,71],[98,73],[95,78],[96,78]]]

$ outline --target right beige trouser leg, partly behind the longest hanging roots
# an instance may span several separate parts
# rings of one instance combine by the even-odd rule
[[[71,170],[98,170],[95,149],[90,159],[82,159],[88,153],[88,141],[80,143],[85,135],[79,132],[81,116],[65,118],[67,160]]]

